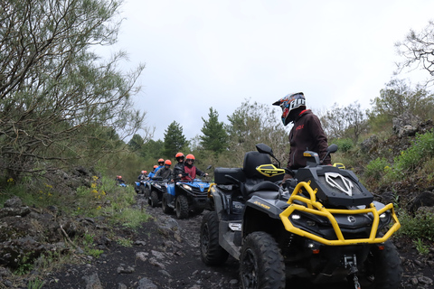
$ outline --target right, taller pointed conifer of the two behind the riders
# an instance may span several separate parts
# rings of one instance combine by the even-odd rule
[[[224,124],[219,122],[219,114],[216,110],[210,107],[209,119],[203,120],[203,127],[201,129],[203,135],[200,136],[204,150],[208,150],[218,155],[227,149],[229,135],[224,130]]]

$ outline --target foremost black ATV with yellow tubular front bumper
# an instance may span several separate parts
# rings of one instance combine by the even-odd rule
[[[314,152],[305,152],[307,167],[282,184],[288,169],[271,163],[269,156],[278,160],[266,144],[257,149],[245,154],[242,169],[215,169],[214,210],[200,232],[205,264],[240,260],[242,288],[285,288],[291,278],[400,286],[401,260],[389,238],[401,225],[392,203],[374,201],[353,172],[320,165]],[[327,155],[336,150],[332,144]]]

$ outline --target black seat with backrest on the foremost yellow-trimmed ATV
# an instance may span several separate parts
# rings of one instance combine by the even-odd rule
[[[268,154],[249,152],[244,155],[243,172],[246,182],[241,184],[241,192],[244,198],[250,199],[252,195],[264,199],[278,199],[279,186],[276,178],[269,178],[256,170],[261,164],[269,164],[271,160]]]

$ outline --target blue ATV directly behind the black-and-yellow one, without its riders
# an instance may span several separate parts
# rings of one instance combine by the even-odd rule
[[[177,219],[186,219],[189,214],[197,215],[207,206],[210,182],[194,179],[167,183],[167,192],[163,194],[162,209],[165,214],[175,210]]]

